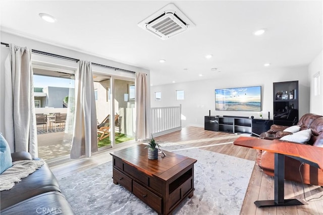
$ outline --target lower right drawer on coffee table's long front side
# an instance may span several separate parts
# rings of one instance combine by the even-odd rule
[[[150,192],[140,184],[133,181],[133,194],[148,204],[151,208],[161,213],[162,199],[156,194]]]

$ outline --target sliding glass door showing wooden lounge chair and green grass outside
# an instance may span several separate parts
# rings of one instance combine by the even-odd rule
[[[129,97],[133,81],[93,75],[99,150],[134,139],[134,98]],[[134,96],[132,92],[131,97]]]

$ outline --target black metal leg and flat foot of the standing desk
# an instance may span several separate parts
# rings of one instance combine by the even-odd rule
[[[285,155],[275,153],[274,200],[255,201],[257,207],[302,205],[297,199],[284,199]]]

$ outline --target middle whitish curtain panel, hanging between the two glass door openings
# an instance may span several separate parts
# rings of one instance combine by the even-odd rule
[[[96,108],[91,62],[80,60],[75,74],[75,121],[71,159],[97,152]]]

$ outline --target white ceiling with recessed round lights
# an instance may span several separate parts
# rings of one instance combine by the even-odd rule
[[[196,27],[161,40],[137,26],[169,3]],[[322,1],[5,1],[1,28],[150,69],[160,85],[308,65],[322,50]]]

